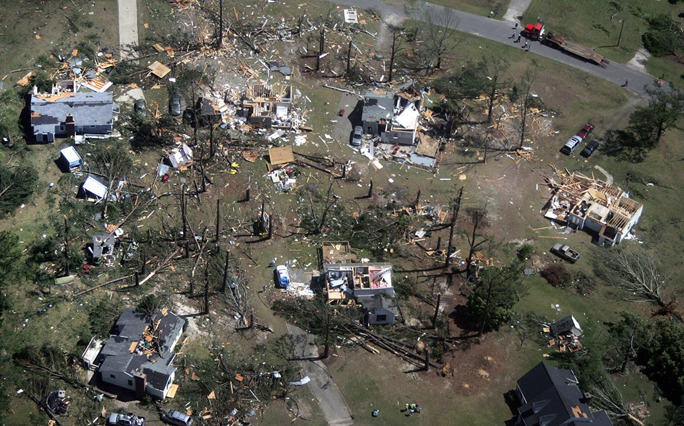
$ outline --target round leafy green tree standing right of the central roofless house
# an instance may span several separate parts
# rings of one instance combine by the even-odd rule
[[[513,318],[515,305],[525,293],[522,268],[516,260],[505,267],[487,267],[480,273],[468,295],[468,311],[478,322],[478,336]]]

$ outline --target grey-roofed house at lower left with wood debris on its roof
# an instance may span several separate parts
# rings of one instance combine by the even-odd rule
[[[101,380],[135,391],[137,398],[146,394],[166,398],[176,372],[173,349],[184,323],[166,309],[151,317],[132,308],[124,309],[98,356]]]

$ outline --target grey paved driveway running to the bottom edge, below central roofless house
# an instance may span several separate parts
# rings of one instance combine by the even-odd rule
[[[313,336],[299,327],[286,325],[288,333],[292,336],[294,356],[317,358],[318,348],[313,342]],[[300,365],[304,369],[304,375],[311,379],[309,390],[318,401],[326,423],[330,426],[352,426],[354,422],[351,419],[349,407],[323,362],[302,360]]]

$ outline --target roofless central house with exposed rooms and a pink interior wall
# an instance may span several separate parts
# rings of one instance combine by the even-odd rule
[[[394,323],[398,309],[391,264],[358,262],[349,242],[324,242],[320,261],[329,304],[360,307],[367,325]]]

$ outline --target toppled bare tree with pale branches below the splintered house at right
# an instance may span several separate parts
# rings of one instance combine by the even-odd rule
[[[663,300],[665,277],[652,255],[645,251],[609,249],[596,251],[594,272],[630,302],[652,302],[667,307]]]

